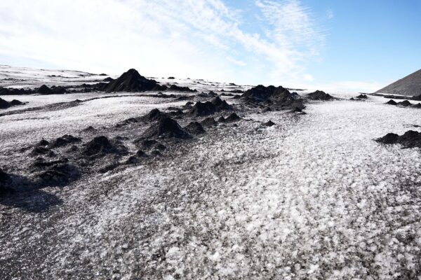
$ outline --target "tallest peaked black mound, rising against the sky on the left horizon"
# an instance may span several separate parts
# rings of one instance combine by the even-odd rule
[[[106,92],[141,92],[146,90],[162,90],[156,80],[140,76],[138,71],[130,69],[107,85]]]

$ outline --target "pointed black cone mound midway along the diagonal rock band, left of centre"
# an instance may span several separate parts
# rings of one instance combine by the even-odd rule
[[[143,138],[191,138],[192,135],[185,131],[172,118],[161,118],[157,123],[151,125],[142,135]]]

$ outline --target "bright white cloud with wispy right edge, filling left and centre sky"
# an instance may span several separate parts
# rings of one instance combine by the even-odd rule
[[[2,0],[0,55],[67,69],[292,84],[324,35],[298,0],[255,1],[266,32],[221,0]]]

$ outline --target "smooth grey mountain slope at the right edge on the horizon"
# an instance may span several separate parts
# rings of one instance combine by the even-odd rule
[[[377,90],[375,93],[390,93],[390,94],[401,94],[407,96],[415,96],[421,94],[421,69],[396,80],[396,82],[383,87],[381,90]]]

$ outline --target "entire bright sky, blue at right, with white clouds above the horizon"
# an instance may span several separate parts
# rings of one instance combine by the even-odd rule
[[[421,68],[420,0],[1,0],[0,64],[373,92]]]

